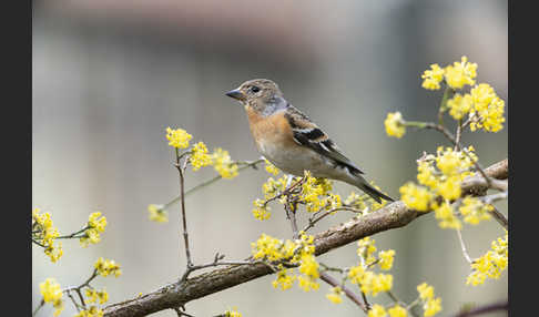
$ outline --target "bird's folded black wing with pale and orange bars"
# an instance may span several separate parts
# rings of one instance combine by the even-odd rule
[[[292,104],[288,104],[285,117],[292,126],[295,142],[309,147],[325,157],[332,158],[337,165],[348,167],[350,172],[364,174],[359,167],[340,152],[337,144],[322,129]]]

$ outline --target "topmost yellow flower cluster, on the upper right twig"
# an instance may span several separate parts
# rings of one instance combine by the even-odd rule
[[[447,65],[441,69],[438,64],[431,64],[430,70],[426,70],[421,74],[423,88],[427,90],[440,89],[443,80],[452,88],[461,89],[465,85],[472,85],[476,83],[477,64],[468,62],[467,57],[462,57],[460,62],[454,62],[452,65]]]

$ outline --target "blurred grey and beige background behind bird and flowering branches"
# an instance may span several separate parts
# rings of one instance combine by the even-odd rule
[[[146,212],[149,204],[179,193],[164,131],[183,127],[210,151],[221,146],[235,160],[257,158],[243,109],[224,95],[243,81],[276,81],[369,180],[398,197],[398,187],[415,178],[421,152],[448,143],[433,131],[388,137],[387,112],[434,120],[441,92],[421,89],[420,74],[430,63],[446,65],[461,55],[478,63],[478,82],[490,83],[507,101],[507,1],[35,1],[32,204],[51,212],[61,233],[79,229],[94,211],[102,211],[109,225],[98,245],[81,248],[77,241],[64,241],[57,264],[33,247],[33,305],[39,283],[52,276],[62,286],[78,285],[100,256],[123,268],[118,279],[96,279],[110,303],[179,277],[185,264],[180,208],[172,208],[166,224],[150,222]],[[475,145],[484,165],[507,157],[507,129],[467,133],[464,143]],[[214,175],[212,167],[190,171],[186,186]],[[270,221],[251,214],[267,177],[264,170],[248,170],[187,198],[195,263],[210,262],[217,250],[228,259],[244,258],[261,233],[291,236],[277,206]],[[336,186],[343,196],[353,190]],[[505,204],[500,209],[507,214]],[[349,216],[337,214],[314,233]],[[502,234],[495,222],[462,232],[472,257]],[[469,266],[457,235],[438,228],[434,215],[374,238],[378,249],[396,250],[394,290],[403,300],[415,299],[421,282],[434,285],[446,316],[466,303],[508,297],[507,273],[482,286],[465,285]],[[321,260],[355,265],[355,249],[350,244]],[[348,300],[329,303],[326,284],[316,293],[297,286],[282,292],[271,286],[273,279],[189,303],[187,313],[211,316],[236,306],[243,316],[358,314]],[[39,316],[51,311],[47,307]],[[62,316],[73,314],[67,303]]]

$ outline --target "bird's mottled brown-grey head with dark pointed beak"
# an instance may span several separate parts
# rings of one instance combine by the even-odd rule
[[[263,115],[286,106],[277,84],[266,79],[246,81],[237,89],[228,91],[226,95],[238,100],[246,110],[252,109]]]

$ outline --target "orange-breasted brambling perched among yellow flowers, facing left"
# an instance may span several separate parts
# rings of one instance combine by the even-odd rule
[[[378,203],[394,200],[374,188],[322,129],[289,104],[277,84],[266,79],[242,83],[226,93],[247,112],[251,133],[262,155],[281,171],[338,180],[364,191]]]

